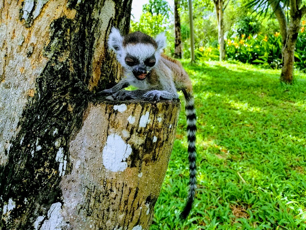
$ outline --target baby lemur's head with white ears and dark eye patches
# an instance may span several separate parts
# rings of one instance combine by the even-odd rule
[[[166,46],[166,37],[164,33],[160,33],[153,39],[141,32],[122,37],[116,28],[112,28],[108,45],[117,54],[125,74],[142,81],[150,77],[152,69],[157,65],[161,49]]]

